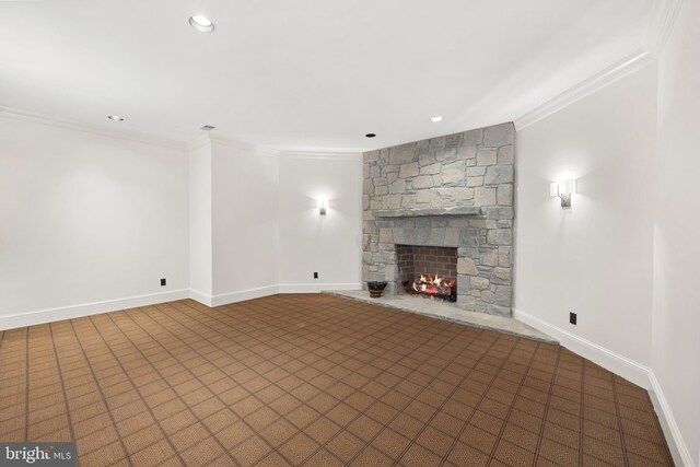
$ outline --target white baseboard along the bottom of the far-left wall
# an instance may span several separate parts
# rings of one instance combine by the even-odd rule
[[[187,289],[182,289],[168,292],[128,296],[126,299],[105,300],[102,302],[82,303],[80,305],[60,306],[57,308],[18,313],[15,315],[0,316],[0,330],[60,322],[63,319],[79,318],[82,316],[96,315],[100,313],[114,312],[117,310],[128,310],[136,308],[138,306],[154,305],[156,303],[187,299],[188,296],[189,291]]]

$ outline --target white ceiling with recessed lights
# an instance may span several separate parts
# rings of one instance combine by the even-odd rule
[[[180,142],[209,124],[279,149],[368,150],[521,117],[639,50],[653,7],[0,1],[0,106]]]

